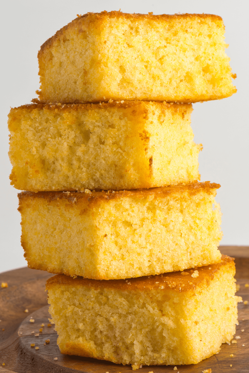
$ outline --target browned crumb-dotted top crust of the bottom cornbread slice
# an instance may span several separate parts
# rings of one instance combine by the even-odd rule
[[[143,276],[137,278],[131,278],[128,280],[92,280],[77,277],[73,279],[66,275],[56,275],[47,280],[46,288],[49,290],[54,285],[65,285],[65,286],[91,286],[93,288],[111,288],[119,289],[122,291],[150,291],[152,289],[169,289],[177,292],[186,292],[189,290],[195,290],[197,286],[202,286],[203,282],[206,281],[205,287],[208,286],[209,282],[214,279],[214,275],[220,270],[222,266],[228,265],[233,267],[234,270],[234,258],[222,255],[220,263],[209,264],[208,266],[196,267],[194,269],[187,269],[183,272],[169,272],[163,273],[162,275],[155,276]],[[192,277],[194,271],[198,271],[197,277]],[[187,275],[182,275],[187,273]],[[162,288],[162,286],[164,286]]]

